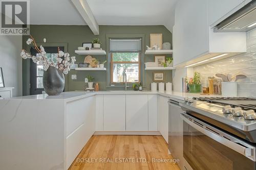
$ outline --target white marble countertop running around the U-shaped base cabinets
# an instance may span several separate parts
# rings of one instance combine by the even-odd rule
[[[60,95],[48,95],[48,94],[37,94],[37,95],[27,95],[19,96],[4,100],[65,100],[66,102],[78,100],[81,98],[87,98],[96,94],[159,94],[167,98],[175,98],[179,100],[184,100],[184,98],[190,98],[195,96],[220,96],[220,95],[202,95],[199,93],[182,93],[182,92],[168,92],[168,91],[97,91],[97,92],[84,92],[84,91],[68,91],[63,92]]]

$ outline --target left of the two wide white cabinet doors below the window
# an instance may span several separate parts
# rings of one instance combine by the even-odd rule
[[[125,131],[125,95],[104,94],[103,130]]]

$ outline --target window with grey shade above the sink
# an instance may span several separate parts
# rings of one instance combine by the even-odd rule
[[[111,83],[140,82],[141,39],[111,39]]]

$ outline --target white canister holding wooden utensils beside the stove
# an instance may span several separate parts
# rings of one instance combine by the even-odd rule
[[[223,96],[237,96],[238,82],[221,82],[221,93]]]

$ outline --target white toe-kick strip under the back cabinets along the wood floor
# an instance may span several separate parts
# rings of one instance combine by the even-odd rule
[[[159,131],[96,131],[94,135],[154,135],[161,136]]]

